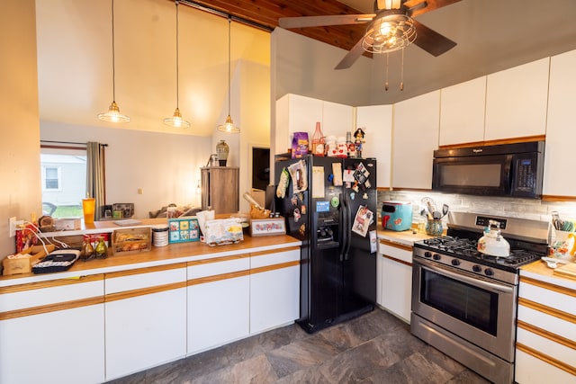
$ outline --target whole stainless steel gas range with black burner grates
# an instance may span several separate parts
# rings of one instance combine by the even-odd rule
[[[508,257],[477,251],[489,220]],[[546,255],[548,223],[451,212],[445,237],[414,243],[410,331],[495,383],[514,380],[519,267]]]

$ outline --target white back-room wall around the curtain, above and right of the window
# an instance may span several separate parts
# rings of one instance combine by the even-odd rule
[[[49,121],[41,122],[40,138],[108,144],[106,203],[133,202],[137,219],[146,219],[148,211],[159,210],[169,203],[200,206],[196,185],[200,167],[206,165],[213,150],[211,138]],[[37,161],[40,164],[39,158]],[[139,188],[142,194],[138,193]]]

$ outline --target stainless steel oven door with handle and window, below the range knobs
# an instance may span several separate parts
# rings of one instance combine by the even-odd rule
[[[415,257],[412,312],[514,362],[518,287]]]

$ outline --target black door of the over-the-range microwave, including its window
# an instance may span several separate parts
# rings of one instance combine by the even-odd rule
[[[512,155],[435,158],[432,190],[507,196],[512,186],[512,159]]]

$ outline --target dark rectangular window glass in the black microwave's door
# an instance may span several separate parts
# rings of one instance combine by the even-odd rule
[[[440,185],[500,187],[500,164],[444,164]]]

